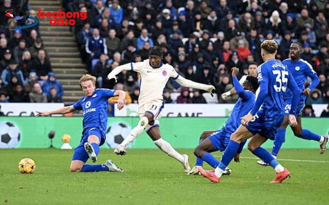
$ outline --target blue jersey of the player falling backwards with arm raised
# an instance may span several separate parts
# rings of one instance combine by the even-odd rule
[[[251,91],[245,90],[244,97],[240,97],[232,110],[230,117],[225,123],[225,131],[228,133],[234,133],[241,124],[241,119],[249,113],[255,103],[255,95]]]

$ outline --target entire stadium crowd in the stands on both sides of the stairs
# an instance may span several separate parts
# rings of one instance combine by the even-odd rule
[[[6,9],[10,2],[4,1]],[[230,68],[239,67],[240,77],[247,74],[249,63],[262,63],[261,42],[273,39],[279,44],[280,60],[289,58],[291,42],[302,44],[301,58],[313,66],[320,78],[307,104],[329,103],[327,0],[234,0],[229,4],[227,0],[64,0],[62,5],[66,11],[87,12],[86,20],[77,19],[73,30],[81,58],[88,64],[88,72],[97,77],[98,87],[114,88],[115,82],[106,79],[107,73],[118,65],[147,59],[150,47],[157,45],[164,51],[164,63],[173,65],[187,79],[214,85],[219,103],[234,103],[236,96],[221,98],[233,87]],[[10,95],[15,94],[10,93],[17,92],[17,83],[31,91],[33,81],[57,82],[53,73],[50,76],[54,78],[48,74],[51,65],[46,52],[43,55],[38,28],[11,32],[13,24],[2,21],[0,31],[1,90],[9,85],[9,101],[14,100]],[[25,86],[28,82],[30,87]],[[118,82],[122,86],[117,87],[130,94],[126,102],[136,102],[136,73],[123,72]],[[42,90],[48,96],[50,89],[56,88],[50,101],[60,100],[61,86],[45,85]],[[177,99],[171,99],[171,94],[177,92]],[[173,80],[167,84],[164,96],[166,103],[206,102],[202,91],[180,88]]]

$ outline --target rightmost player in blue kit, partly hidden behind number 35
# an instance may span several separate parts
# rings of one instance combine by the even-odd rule
[[[305,99],[309,95],[309,92],[312,91],[314,88],[316,88],[316,86],[319,84],[319,78],[317,76],[317,73],[313,70],[312,65],[310,65],[307,61],[300,58],[301,51],[302,51],[302,46],[299,42],[291,43],[289,48],[290,59],[286,59],[282,62],[282,64],[285,65],[286,68],[288,68],[288,70],[291,72],[291,75],[294,77],[299,89],[303,90],[303,92],[300,95],[296,109],[296,114],[295,114],[298,125],[296,127],[291,127],[291,129],[293,130],[294,135],[296,137],[305,140],[318,141],[320,143],[320,153],[323,154],[326,149],[326,143],[328,142],[328,137],[317,135],[309,131],[308,129],[302,128],[301,114],[303,107],[305,105]],[[312,79],[312,83],[307,88],[305,88],[304,82],[306,81],[307,77]],[[291,90],[287,89],[286,94],[284,95],[285,116],[283,123],[278,129],[278,133],[273,142],[273,149],[271,153],[275,158],[279,153],[282,143],[285,141],[286,128],[288,126],[288,114],[289,114],[289,109],[291,107],[291,98],[292,98],[292,92]],[[257,163],[261,165],[269,165],[262,160],[258,161]]]

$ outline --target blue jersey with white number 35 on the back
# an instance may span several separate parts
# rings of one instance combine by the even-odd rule
[[[275,59],[266,61],[257,68],[258,82],[266,82],[267,96],[257,111],[259,116],[282,118],[284,116],[284,94],[289,80],[288,69]]]

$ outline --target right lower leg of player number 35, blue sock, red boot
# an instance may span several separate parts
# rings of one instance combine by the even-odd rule
[[[283,167],[267,150],[260,147],[267,139],[260,136],[253,136],[248,143],[248,150],[252,152],[255,156],[262,159],[265,163],[270,164],[276,171],[275,180],[270,183],[281,183],[287,177],[290,177],[290,172]]]

